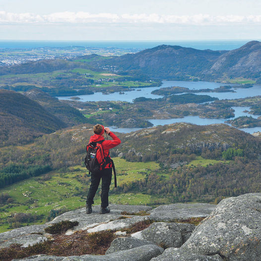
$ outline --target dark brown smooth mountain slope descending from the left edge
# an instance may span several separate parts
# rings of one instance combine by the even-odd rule
[[[25,95],[0,90],[0,147],[24,144],[65,127],[63,121]]]

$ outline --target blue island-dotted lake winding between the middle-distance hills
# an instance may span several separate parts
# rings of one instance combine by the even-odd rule
[[[103,95],[101,92],[96,92],[91,95],[78,95],[80,97],[79,101],[127,101],[132,102],[133,99],[138,97],[146,97],[146,98],[160,98],[163,96],[151,94],[153,90],[160,89],[162,87],[170,87],[170,86],[180,86],[186,87],[189,89],[215,89],[220,86],[226,85],[224,83],[217,83],[217,82],[208,82],[208,81],[162,81],[161,86],[157,87],[146,87],[146,88],[136,88],[132,91],[125,92],[124,94],[120,94],[119,92],[115,92],[108,95]],[[261,95],[261,85],[255,84],[251,88],[238,88],[237,85],[234,86],[233,90],[235,92],[206,92],[206,93],[198,93],[197,95],[209,95],[211,97],[217,97],[218,99],[239,99],[239,98],[246,98]],[[66,99],[69,100],[71,96],[68,97],[58,97],[59,99]],[[235,110],[235,118],[240,116],[250,116],[248,113],[244,113],[245,110],[250,110],[250,107],[232,107]],[[258,118],[258,115],[251,115],[253,118]],[[206,118],[199,118],[198,116],[186,116],[184,118],[175,118],[175,119],[149,119],[148,121],[151,122],[154,126],[158,125],[165,125],[165,124],[173,124],[173,123],[180,123],[180,122],[187,122],[196,125],[209,125],[209,124],[217,124],[217,123],[224,123],[226,120],[230,119],[206,119]],[[110,127],[113,131],[118,132],[131,132],[140,130],[140,128],[116,128],[111,126]],[[242,131],[246,131],[249,133],[253,133],[255,131],[261,131],[261,127],[256,128],[244,128],[241,129]]]

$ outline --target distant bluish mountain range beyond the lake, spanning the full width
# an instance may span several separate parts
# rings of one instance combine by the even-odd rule
[[[243,77],[261,82],[261,42],[232,51],[197,50],[160,45],[120,57],[80,56],[71,60],[41,60],[1,67],[0,75],[52,72],[72,68],[111,70],[137,79],[227,80]]]

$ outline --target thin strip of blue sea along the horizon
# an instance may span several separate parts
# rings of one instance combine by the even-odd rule
[[[153,48],[158,45],[180,45],[183,47],[191,47],[199,50],[233,50],[241,47],[251,40],[197,40],[197,41],[10,41],[0,40],[1,48],[19,48],[31,49],[41,47],[97,47],[97,48],[121,48],[143,50]]]

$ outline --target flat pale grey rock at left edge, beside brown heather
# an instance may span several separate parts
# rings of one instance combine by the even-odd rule
[[[42,236],[42,235],[38,235],[38,234],[29,234],[29,235],[22,235],[22,236],[18,236],[15,238],[11,238],[7,241],[4,241],[2,243],[0,243],[0,249],[1,248],[8,248],[9,246],[11,246],[12,244],[21,244],[21,247],[28,247],[28,246],[32,246],[34,244],[46,241],[47,238]]]

